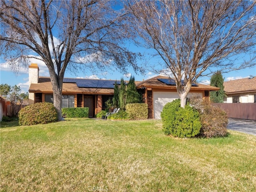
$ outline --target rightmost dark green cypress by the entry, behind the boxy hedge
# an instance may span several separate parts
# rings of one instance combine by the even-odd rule
[[[140,94],[137,92],[135,78],[134,76],[131,76],[126,89],[126,104],[139,103],[139,102],[140,102]]]

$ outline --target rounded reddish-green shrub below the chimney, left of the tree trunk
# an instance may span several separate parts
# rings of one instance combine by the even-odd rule
[[[22,108],[18,114],[19,125],[36,125],[56,122],[56,108],[52,103],[42,102]]]

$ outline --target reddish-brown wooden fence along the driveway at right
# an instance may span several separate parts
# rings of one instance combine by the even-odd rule
[[[220,106],[229,118],[256,120],[256,103],[214,103]]]

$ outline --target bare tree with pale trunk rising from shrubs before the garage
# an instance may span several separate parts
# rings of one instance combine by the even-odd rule
[[[171,72],[182,107],[200,76],[255,66],[256,1],[135,0],[124,6],[136,44],[160,57],[155,72]]]

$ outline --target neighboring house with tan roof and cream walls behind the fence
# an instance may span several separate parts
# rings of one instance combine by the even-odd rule
[[[224,103],[255,103],[256,77],[230,80],[223,83],[227,97]]]

